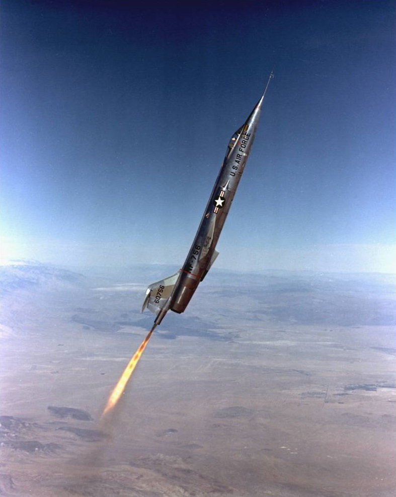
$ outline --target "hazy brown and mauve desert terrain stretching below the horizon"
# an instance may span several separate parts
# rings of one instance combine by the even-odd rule
[[[0,494],[393,496],[392,275],[213,269],[101,419],[173,269],[3,268]]]

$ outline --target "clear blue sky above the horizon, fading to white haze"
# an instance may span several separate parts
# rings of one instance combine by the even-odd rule
[[[216,266],[396,270],[395,6],[3,0],[5,255],[182,264],[274,69]]]

